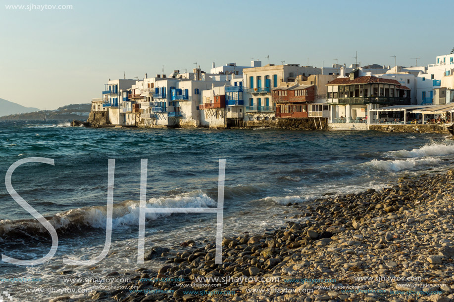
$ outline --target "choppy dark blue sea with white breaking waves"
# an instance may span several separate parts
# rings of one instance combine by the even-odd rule
[[[264,231],[289,221],[289,203],[324,194],[381,189],[402,176],[441,173],[454,163],[443,134],[284,129],[87,129],[65,121],[0,122],[0,253],[32,260],[47,255],[49,232],[8,193],[13,189],[58,234],[55,255],[43,264],[0,261],[0,292],[16,301],[88,298],[121,286],[124,273],[155,269],[137,263],[141,160],[148,159],[147,207],[217,207],[219,160],[225,159],[224,236]],[[115,159],[112,241],[93,266],[63,263],[101,254],[106,232],[108,160]],[[190,239],[215,240],[216,214],[147,214],[145,250]],[[118,276],[105,280],[116,271]],[[138,274],[138,273],[137,273]],[[131,275],[134,276],[134,275]],[[115,279],[115,280],[113,280]],[[75,285],[76,284],[76,285]],[[92,294],[91,294],[92,293]]]

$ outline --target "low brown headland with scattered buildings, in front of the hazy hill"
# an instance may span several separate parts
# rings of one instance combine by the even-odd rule
[[[0,117],[0,121],[17,120],[84,120],[87,119],[91,110],[91,104],[70,104],[56,110],[41,110],[22,114],[12,114]]]

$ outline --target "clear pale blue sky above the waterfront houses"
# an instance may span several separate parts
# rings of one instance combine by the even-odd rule
[[[412,58],[433,64],[454,47],[453,1],[0,3],[0,98],[40,109],[89,103],[108,79],[152,77],[163,65],[167,75],[196,62],[209,72],[213,62],[267,64],[269,55],[272,64],[349,66],[357,51],[361,66],[394,66],[391,56],[414,66]]]

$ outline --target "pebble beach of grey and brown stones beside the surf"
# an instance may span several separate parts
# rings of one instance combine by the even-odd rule
[[[224,238],[221,265],[208,240],[154,247],[146,260],[165,261],[158,271],[145,265],[125,289],[78,301],[453,301],[453,198],[454,170],[327,193],[289,204],[285,227]]]

